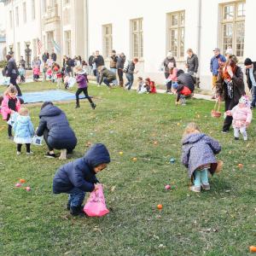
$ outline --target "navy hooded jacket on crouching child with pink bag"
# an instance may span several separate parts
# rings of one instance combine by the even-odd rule
[[[73,188],[84,192],[93,191],[94,184],[99,183],[94,167],[109,162],[110,156],[105,145],[100,143],[93,145],[84,157],[60,167],[53,180],[53,192],[68,193]]]

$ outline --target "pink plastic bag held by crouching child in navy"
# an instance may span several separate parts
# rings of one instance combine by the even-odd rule
[[[84,206],[84,212],[90,217],[102,217],[108,214],[102,185],[99,185],[99,189],[90,193],[90,197]]]

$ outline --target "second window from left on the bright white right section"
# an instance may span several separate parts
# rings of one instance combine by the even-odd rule
[[[134,25],[137,23],[137,29],[134,29]],[[131,56],[137,58],[139,61],[143,61],[144,57],[144,38],[143,38],[143,18],[137,18],[130,20],[131,27]],[[137,37],[137,54],[135,47],[135,36]]]

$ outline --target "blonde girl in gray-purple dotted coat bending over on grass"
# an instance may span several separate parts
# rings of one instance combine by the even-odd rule
[[[208,171],[213,174],[218,166],[215,154],[221,150],[220,144],[212,137],[201,133],[195,123],[190,123],[183,134],[182,163],[188,168],[194,186],[189,189],[193,192],[209,190]]]

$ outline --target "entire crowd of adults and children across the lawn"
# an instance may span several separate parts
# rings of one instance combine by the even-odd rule
[[[252,93],[252,102],[246,95],[245,84],[241,67],[237,65],[236,55],[228,49],[224,55],[220,49],[213,49],[214,55],[210,61],[212,72],[212,98],[217,101],[224,101],[225,119],[222,131],[227,133],[232,125],[235,140],[239,139],[241,133],[243,140],[247,141],[247,126],[250,125],[253,117],[252,109],[256,103],[256,62],[247,58],[244,61],[246,68],[247,85]],[[199,60],[192,49],[187,50],[186,71],[177,68],[172,52],[168,52],[161,67],[166,79],[166,93],[175,93],[176,105],[186,105],[185,99],[193,96],[195,90]],[[38,81],[43,70],[43,79],[57,82],[60,88],[65,83],[65,88],[71,86],[71,80],[78,83],[76,91],[76,108],[80,107],[79,94],[90,102],[91,108],[95,109],[96,104],[88,95],[88,75],[96,77],[97,84],[106,84],[108,87],[119,86],[131,90],[134,82],[134,74],[137,73],[137,58],[131,61],[126,60],[125,54],[116,54],[112,50],[109,68],[99,51],[90,55],[88,63],[80,56],[71,59],[64,56],[62,67],[56,62],[57,56],[54,51],[51,55],[45,52],[42,61],[35,58],[32,61],[33,79]],[[66,114],[52,102],[44,102],[39,113],[38,129],[34,131],[32,121],[27,108],[21,106],[19,85],[16,80],[20,76],[20,82],[26,78],[26,62],[20,58],[19,68],[11,55],[7,55],[8,65],[3,70],[4,75],[9,76],[10,85],[3,97],[0,97],[1,113],[8,124],[8,137],[16,143],[17,154],[21,154],[22,145],[26,145],[26,154],[32,154],[31,144],[33,137],[44,137],[49,151],[46,157],[55,158],[55,149],[61,150],[60,159],[66,159],[67,154],[72,154],[78,141],[73,129],[67,121]],[[43,67],[42,67],[43,66]],[[124,83],[124,73],[127,83]],[[156,93],[154,81],[150,78],[137,78],[137,93]],[[15,132],[13,137],[12,132]],[[215,154],[221,150],[220,144],[201,132],[195,123],[190,123],[183,134],[182,162],[188,168],[189,177],[194,185],[191,191],[200,192],[201,189],[209,190],[208,171],[212,174],[219,169]],[[54,193],[69,194],[67,208],[73,215],[82,214],[82,203],[84,193],[91,192],[98,188],[96,173],[101,172],[110,162],[108,149],[103,144],[96,144],[90,148],[82,159],[68,163],[56,172],[54,178]],[[80,170],[78,172],[78,170]],[[81,170],[85,170],[82,172]],[[84,214],[84,213],[83,213]]]

